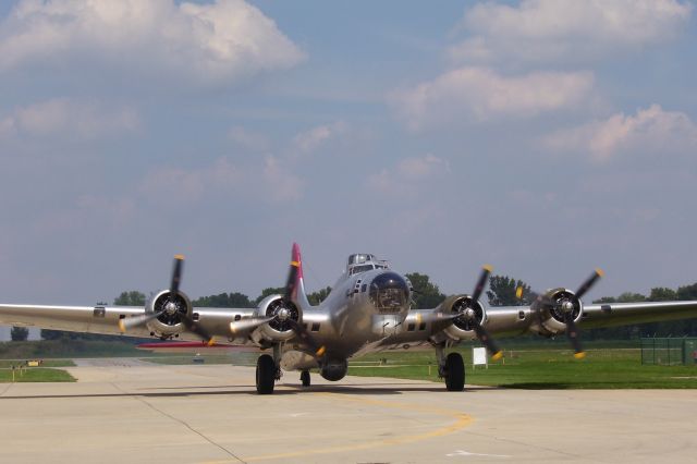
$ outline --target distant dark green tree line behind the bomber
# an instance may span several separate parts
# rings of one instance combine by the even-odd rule
[[[447,295],[439,286],[431,282],[430,277],[419,272],[405,274],[412,282],[413,308],[427,309],[437,307]],[[518,298],[516,290],[523,289],[522,297]],[[256,298],[250,298],[244,293],[231,292],[217,295],[201,296],[192,301],[195,307],[239,307],[254,308],[261,300],[272,294],[283,294],[284,288],[267,288]],[[313,305],[322,302],[329,292],[330,286],[326,286],[307,295]],[[489,290],[487,297],[490,306],[516,306],[528,304],[530,301],[530,286],[519,279],[508,276],[491,276],[489,279]],[[114,306],[144,306],[146,295],[138,291],[122,292],[113,301]],[[594,303],[633,303],[633,302],[668,302],[697,300],[697,283],[680,286],[676,290],[668,288],[653,288],[648,295],[639,293],[622,293],[621,295],[606,296]],[[97,305],[106,305],[98,303]],[[21,327],[12,328],[12,340],[26,340],[28,330]],[[613,327],[607,329],[591,329],[584,331],[586,340],[626,340],[641,337],[697,337],[697,319],[684,319],[664,322],[649,322],[635,326]],[[45,340],[123,340],[120,335],[100,335],[93,333],[63,332],[60,330],[41,330],[41,338]]]

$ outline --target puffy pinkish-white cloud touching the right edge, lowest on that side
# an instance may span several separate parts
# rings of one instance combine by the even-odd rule
[[[624,154],[694,154],[697,124],[683,112],[663,111],[652,105],[639,109],[636,115],[617,113],[604,121],[558,132],[546,137],[543,144],[554,151],[588,152],[597,161]]]

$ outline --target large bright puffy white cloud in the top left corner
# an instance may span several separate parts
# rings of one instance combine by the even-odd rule
[[[242,0],[23,0],[0,24],[0,71],[87,61],[121,70],[134,83],[205,85],[303,58],[272,20]]]

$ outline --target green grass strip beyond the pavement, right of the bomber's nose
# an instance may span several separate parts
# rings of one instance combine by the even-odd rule
[[[472,368],[472,350],[460,351],[469,384],[524,389],[697,388],[697,366],[643,366],[638,349],[589,350],[576,361],[570,350],[505,350],[505,363]],[[383,366],[376,364],[387,358]],[[430,375],[429,375],[430,363]],[[432,353],[382,353],[351,364],[350,375],[440,381]]]

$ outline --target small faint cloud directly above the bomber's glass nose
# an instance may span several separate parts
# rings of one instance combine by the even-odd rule
[[[370,188],[380,193],[395,196],[413,195],[419,185],[448,173],[449,162],[428,154],[424,157],[405,158],[394,168],[371,174],[367,182]]]

